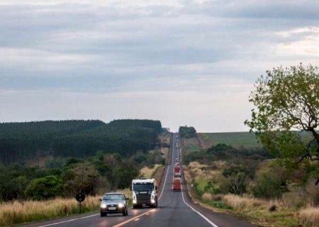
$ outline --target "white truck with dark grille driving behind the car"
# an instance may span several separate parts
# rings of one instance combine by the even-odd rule
[[[133,179],[133,209],[138,206],[157,207],[157,181],[155,179]]]

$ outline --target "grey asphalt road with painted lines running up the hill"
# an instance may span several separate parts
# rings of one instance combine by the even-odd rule
[[[181,192],[172,190],[173,167],[179,160],[179,138],[174,133],[172,141],[172,165],[168,165],[164,172],[162,186],[159,188],[159,206],[157,209],[129,209],[128,216],[112,214],[100,217],[100,214],[86,214],[85,216],[71,216],[52,221],[31,223],[28,227],[87,227],[87,226],[181,226],[181,227],[251,227],[254,226],[242,219],[225,214],[215,213],[194,204],[186,192],[184,180]]]

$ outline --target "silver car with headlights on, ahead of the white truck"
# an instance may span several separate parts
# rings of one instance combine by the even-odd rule
[[[128,199],[123,193],[106,193],[101,199],[101,217],[121,213],[128,215]]]

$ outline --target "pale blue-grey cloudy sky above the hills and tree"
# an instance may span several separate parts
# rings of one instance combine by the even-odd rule
[[[254,82],[319,66],[319,1],[0,0],[0,122],[248,131]]]

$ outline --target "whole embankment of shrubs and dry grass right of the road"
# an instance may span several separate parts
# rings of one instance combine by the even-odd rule
[[[194,138],[183,140],[187,145]],[[313,169],[287,170],[278,154],[265,148],[184,148],[189,194],[202,206],[242,216],[257,226],[318,226],[319,188]]]

